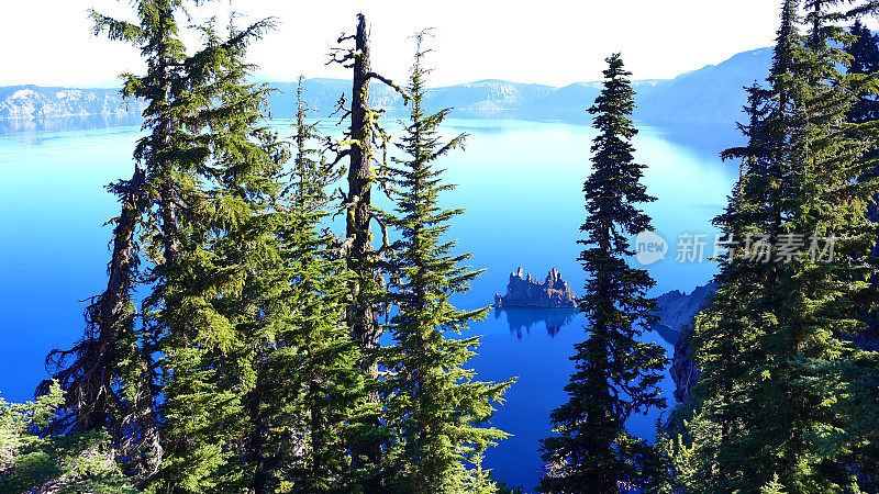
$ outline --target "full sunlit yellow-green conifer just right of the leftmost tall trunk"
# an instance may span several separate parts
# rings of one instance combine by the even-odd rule
[[[166,454],[155,490],[234,491],[254,475],[241,445],[272,336],[265,313],[277,288],[267,278],[279,267],[275,199],[287,153],[264,123],[269,89],[245,82],[244,58],[271,27],[230,25],[221,36],[212,22],[201,26],[204,47],[185,60],[175,94],[170,172],[187,207],[176,216],[177,262],[164,257],[145,302],[163,356]]]

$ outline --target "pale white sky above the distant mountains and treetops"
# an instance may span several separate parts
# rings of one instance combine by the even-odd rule
[[[0,86],[105,85],[138,71],[135,49],[92,36],[87,10],[133,20],[129,0],[0,0]],[[252,63],[275,80],[348,75],[324,66],[342,31],[363,11],[371,24],[374,68],[403,79],[411,34],[434,27],[431,82],[505,79],[564,86],[601,78],[622,52],[636,79],[670,78],[769,46],[780,0],[215,0],[196,15],[275,16]],[[242,21],[244,22],[244,21]],[[223,22],[225,24],[225,22]]]

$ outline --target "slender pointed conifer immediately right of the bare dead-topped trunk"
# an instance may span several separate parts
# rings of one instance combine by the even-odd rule
[[[410,72],[410,119],[397,147],[404,157],[393,158],[397,206],[388,224],[401,239],[390,260],[392,300],[399,313],[390,322],[394,344],[383,349],[382,364],[389,377],[387,426],[394,433],[388,452],[394,479],[389,490],[409,493],[494,492],[481,470],[482,451],[507,434],[485,423],[512,380],[502,383],[474,381],[464,368],[476,353],[479,337],[454,338],[471,321],[485,317],[488,307],[475,311],[452,305],[450,297],[466,292],[480,271],[461,262],[470,254],[456,254],[457,243],[446,240],[450,221],[463,210],[439,205],[444,183],[435,161],[461,147],[465,135],[442,142],[438,127],[449,110],[424,111],[420,33]],[[467,463],[474,464],[469,472]]]

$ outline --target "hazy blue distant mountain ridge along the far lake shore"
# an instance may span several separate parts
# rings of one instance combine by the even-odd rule
[[[771,61],[771,48],[737,54],[719,65],[667,80],[638,80],[635,119],[647,123],[732,123],[746,102],[744,86],[764,80]],[[272,116],[287,119],[294,112],[296,82],[271,82],[278,91],[269,97]],[[309,105],[329,115],[340,97],[349,97],[344,79],[315,78],[303,82]],[[480,80],[433,88],[427,92],[429,110],[454,108],[458,117],[588,121],[601,82],[576,82],[565,87]],[[385,85],[372,86],[372,104],[392,115],[403,115],[402,98]],[[46,88],[11,86],[0,88],[0,119],[34,120],[56,116],[137,115],[141,101],[127,104],[115,89]]]

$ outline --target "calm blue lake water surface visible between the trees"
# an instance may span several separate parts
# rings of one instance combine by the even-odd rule
[[[0,396],[7,401],[32,397],[46,377],[46,353],[81,336],[82,301],[105,287],[111,228],[102,225],[118,214],[118,205],[102,188],[131,177],[133,143],[141,133],[132,122],[109,123],[0,124]],[[488,268],[457,303],[489,305],[520,266],[537,279],[558,268],[578,291],[585,277],[575,242],[585,214],[581,188],[589,175],[591,127],[510,120],[447,123],[449,134],[470,134],[467,150],[443,164],[446,179],[458,184],[444,197],[445,204],[467,209],[452,235],[474,252],[474,267]],[[288,122],[272,125],[289,133]],[[678,236],[708,235],[701,258],[712,254],[710,221],[737,175],[737,166],[721,162],[717,153],[739,141],[732,126],[644,127],[636,137],[636,156],[649,167],[648,192],[658,198],[646,210],[670,249],[648,268],[657,281],[655,294],[689,292],[714,272],[706,261],[676,262]],[[492,311],[472,330],[485,335],[472,361],[479,378],[519,377],[493,420],[514,436],[488,452],[487,467],[527,492],[538,479],[538,439],[549,434],[549,412],[566,401],[568,357],[585,339],[583,319],[565,311]],[[645,338],[672,351],[657,334]],[[666,379],[669,405],[672,388]],[[630,427],[649,437],[656,416],[634,417]]]

